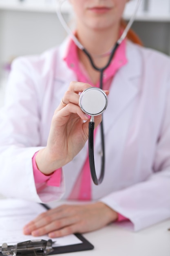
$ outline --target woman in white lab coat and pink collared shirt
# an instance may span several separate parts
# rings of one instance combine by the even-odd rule
[[[122,31],[126,0],[70,2],[77,38],[103,67]],[[78,103],[91,86],[99,86],[99,73],[71,38],[13,62],[0,115],[0,193],[44,203],[92,200],[47,211],[24,234],[58,237],[123,219],[140,230],[170,217],[170,59],[126,38],[104,72],[106,165],[99,186],[90,177],[88,117]],[[100,171],[98,127],[94,152]]]

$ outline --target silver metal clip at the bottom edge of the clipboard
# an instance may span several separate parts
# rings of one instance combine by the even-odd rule
[[[5,256],[16,256],[16,255],[26,255],[26,256],[45,256],[50,252],[53,252],[53,242],[49,240],[29,240],[16,245],[7,245],[3,243],[0,247],[0,252]]]

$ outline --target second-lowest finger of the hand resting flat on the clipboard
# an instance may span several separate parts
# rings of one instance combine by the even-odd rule
[[[41,227],[39,229],[33,230],[31,232],[32,236],[43,236],[45,234],[49,234],[53,231],[57,231],[59,229],[63,229],[67,226],[71,226],[75,224],[78,220],[78,217],[73,216],[69,218],[62,218],[60,220],[55,220],[48,225],[44,225],[44,227]]]

